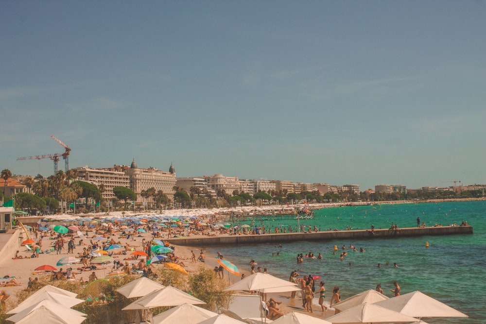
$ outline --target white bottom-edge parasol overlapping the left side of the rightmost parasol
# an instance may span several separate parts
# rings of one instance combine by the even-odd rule
[[[328,317],[326,321],[336,323],[412,323],[416,318],[400,314],[394,310],[364,303],[348,308],[336,315]]]

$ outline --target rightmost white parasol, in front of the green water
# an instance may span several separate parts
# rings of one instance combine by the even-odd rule
[[[468,315],[427,296],[420,291],[409,292],[376,303],[381,307],[395,310],[413,317],[468,317]]]

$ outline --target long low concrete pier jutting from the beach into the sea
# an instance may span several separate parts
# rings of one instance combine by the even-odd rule
[[[295,241],[331,241],[334,239],[393,239],[397,237],[418,237],[437,235],[472,234],[472,226],[437,226],[437,227],[410,227],[399,230],[375,229],[326,231],[313,233],[279,233],[257,235],[226,235],[210,237],[178,237],[170,238],[175,245],[184,246],[216,246],[216,245],[245,245],[259,243],[284,243]]]

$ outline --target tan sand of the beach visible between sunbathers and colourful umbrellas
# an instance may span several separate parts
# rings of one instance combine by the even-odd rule
[[[253,208],[253,210],[255,210],[255,208]],[[202,210],[197,210],[197,211],[194,211],[194,210],[192,210],[192,211],[177,210],[177,212],[174,213],[174,214],[177,214],[177,215],[180,216],[181,212],[183,214],[185,214],[186,217],[195,216],[195,214],[198,214],[198,216],[200,217],[199,221],[203,222],[203,223],[204,222],[223,222],[224,219],[227,217],[227,214],[226,214],[227,211],[226,210],[224,212],[219,210],[216,213],[214,211],[212,211],[212,213],[211,213],[211,212],[209,212],[209,210],[205,210],[205,211],[202,211]],[[260,210],[260,212],[264,212],[264,211]],[[41,222],[41,224],[50,225],[51,227],[53,227],[54,225],[58,225],[58,224],[62,224],[62,225],[66,225],[66,226],[79,225],[80,222],[75,221],[76,218],[79,218],[79,215],[70,216],[70,217],[69,216],[70,215],[55,215],[55,216],[50,218],[50,222]],[[113,217],[122,217],[122,218],[125,217],[125,218],[127,218],[127,217],[134,217],[134,216],[144,217],[144,216],[149,216],[149,214],[144,213],[143,215],[140,215],[140,214],[137,214],[137,215],[128,214],[127,215],[127,213],[123,213],[123,215],[122,215],[121,212],[113,212],[113,213],[110,213],[110,215],[93,214],[91,216],[93,216],[92,218],[94,220],[96,220],[96,219],[107,218],[107,216],[112,217],[112,218]],[[91,221],[91,222],[93,222],[93,221]],[[94,222],[96,222],[96,221],[94,221]],[[97,228],[99,230],[104,229],[104,227],[101,225],[102,222],[103,221],[100,220],[96,224],[98,226]],[[89,224],[90,223],[89,219],[86,219],[86,221],[84,223]],[[117,228],[118,227],[117,224],[114,224],[114,227]],[[142,225],[142,227],[143,227],[143,225]],[[93,271],[96,274],[97,278],[107,278],[107,276],[109,277],[110,273],[116,272],[117,270],[113,269],[113,263],[112,262],[110,262],[106,265],[104,265],[104,264],[98,265],[99,269],[89,270],[89,271],[80,271],[79,269],[82,267],[81,263],[71,264],[71,265],[67,265],[67,266],[66,265],[65,266],[56,266],[56,263],[61,258],[68,257],[68,256],[77,257],[78,253],[82,252],[83,248],[87,247],[87,245],[79,245],[81,239],[83,241],[83,244],[90,244],[90,240],[93,240],[95,238],[99,238],[100,237],[99,233],[98,234],[96,233],[97,228],[91,227],[91,228],[87,229],[87,231],[83,230],[81,232],[81,233],[83,233],[82,234],[83,238],[79,238],[76,233],[73,233],[74,238],[75,238],[74,239],[75,247],[74,247],[73,253],[67,252],[68,251],[68,244],[65,243],[64,244],[65,249],[62,250],[60,252],[60,254],[57,254],[56,251],[54,251],[54,246],[53,246],[54,242],[56,241],[55,238],[57,237],[57,233],[52,233],[52,237],[48,236],[48,237],[44,237],[42,239],[42,251],[44,253],[40,253],[39,257],[30,258],[30,256],[33,254],[33,252],[31,250],[27,249],[27,247],[25,247],[25,246],[20,246],[18,248],[18,251],[19,251],[18,255],[22,256],[22,258],[14,258],[15,255],[10,255],[10,256],[2,255],[1,258],[0,258],[0,276],[1,277],[3,277],[3,276],[15,277],[15,280],[20,283],[20,285],[18,285],[18,286],[14,286],[14,285],[10,286],[11,284],[9,284],[9,287],[3,288],[5,290],[9,291],[10,294],[11,294],[11,297],[6,302],[7,309],[12,309],[12,308],[15,307],[15,305],[17,304],[16,294],[19,291],[25,290],[27,288],[27,283],[29,281],[29,278],[33,278],[33,279],[35,277],[49,278],[52,275],[52,273],[43,273],[43,272],[40,272],[40,271],[35,271],[35,269],[39,266],[51,265],[51,266],[55,267],[57,270],[60,270],[62,268],[63,271],[66,271],[67,268],[70,267],[70,268],[72,268],[72,272],[75,273],[75,276],[76,276],[76,279],[73,279],[73,281],[80,281],[80,279],[82,279],[83,281],[87,281],[89,275]],[[117,243],[120,242],[121,246],[125,246],[126,244],[128,244],[129,248],[133,249],[135,251],[140,251],[142,249],[142,241],[143,240],[145,242],[149,242],[153,239],[153,236],[152,236],[151,233],[142,233],[142,232],[135,232],[135,233],[137,233],[137,235],[133,236],[133,238],[130,238],[130,239],[122,238],[120,236],[121,229],[117,228],[117,229],[114,230],[113,234],[111,234],[111,236],[109,236],[108,238],[114,239]],[[20,231],[20,234],[21,234],[22,239],[27,239],[27,236],[26,236],[25,233],[23,233],[23,231]],[[28,234],[29,234],[29,238],[34,239],[36,241],[36,244],[37,244],[40,237],[38,239],[35,239],[34,233],[30,233],[30,231],[28,231]],[[173,233],[173,235],[174,234],[177,234],[177,232]],[[193,238],[198,238],[198,237],[208,236],[208,235],[226,235],[226,234],[222,234],[220,231],[217,231],[217,230],[212,230],[212,231],[209,231],[209,232],[208,231],[194,232],[194,233],[191,234],[191,236]],[[17,234],[17,236],[18,236],[18,234]],[[168,238],[168,230],[162,231],[161,236],[162,237],[160,237],[158,239],[164,240],[164,242],[167,240],[170,243],[170,239]],[[106,235],[105,235],[105,237],[106,237]],[[100,242],[100,241],[98,241],[98,242]],[[92,241],[92,242],[96,243],[96,240]],[[174,244],[170,244],[170,245],[174,246]],[[191,247],[188,247],[188,246],[177,246],[177,245],[175,245],[175,250],[174,250],[175,255],[181,261],[183,261],[184,268],[188,273],[191,274],[191,273],[196,272],[198,270],[198,268],[201,267],[201,266],[207,267],[208,269],[213,269],[217,265],[216,256],[208,254],[208,252],[206,252],[206,251],[205,251],[206,262],[191,262],[191,255],[192,255],[191,250],[194,251],[194,254],[196,255],[196,257],[199,256],[200,248],[191,248]],[[134,263],[137,263],[139,261],[139,260],[125,260],[126,258],[130,257],[130,252],[126,253],[126,255],[113,255],[113,257],[116,260],[120,260],[120,262],[122,264],[124,262],[129,262],[130,264],[134,264]],[[145,260],[145,257],[141,257],[141,258],[143,260]],[[155,267],[163,267],[163,265],[159,265],[159,264],[156,264],[154,266]],[[241,273],[245,273],[245,275],[250,274],[247,271],[241,271]],[[231,276],[229,276],[229,280],[228,280],[228,273],[226,272],[226,275],[225,275],[224,279],[222,279],[222,280],[225,280],[227,282],[227,284],[229,285],[230,283],[231,284],[234,283],[236,280],[240,280],[240,277],[235,276],[235,275],[231,275]],[[275,294],[271,294],[270,296],[272,296],[273,298],[276,298],[277,300],[282,302],[282,304],[280,305],[280,309],[284,314],[292,312],[292,311],[305,312],[305,310],[302,307],[302,303],[300,301],[300,298],[298,298],[298,296],[297,296],[295,299],[291,299],[290,298],[290,292],[289,293],[275,293]],[[316,309],[317,309],[317,307],[314,307],[314,313],[312,314],[313,316],[316,316],[316,317],[323,318],[323,316],[328,317],[328,316],[331,316],[333,314],[332,310],[328,311],[327,314],[323,314],[320,310],[316,311]],[[305,312],[305,313],[307,313],[307,312]],[[307,313],[307,314],[309,314],[309,313]]]

